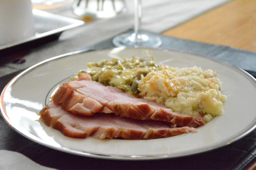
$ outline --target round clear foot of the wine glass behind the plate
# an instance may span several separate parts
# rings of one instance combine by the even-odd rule
[[[113,39],[113,44],[117,47],[159,47],[162,40],[154,34],[141,32],[135,36],[135,33],[124,33],[117,35]]]

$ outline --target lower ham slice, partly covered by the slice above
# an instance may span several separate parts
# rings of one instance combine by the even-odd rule
[[[97,139],[156,139],[197,132],[193,127],[175,127],[176,125],[162,121],[136,120],[114,114],[77,116],[53,102],[50,102],[40,114],[46,125],[73,138],[91,136]]]

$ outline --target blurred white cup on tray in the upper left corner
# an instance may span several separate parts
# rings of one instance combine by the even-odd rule
[[[0,46],[34,35],[31,0],[0,0]]]

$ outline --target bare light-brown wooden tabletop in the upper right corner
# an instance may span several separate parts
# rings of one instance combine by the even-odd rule
[[[162,34],[256,52],[256,0],[232,0]]]

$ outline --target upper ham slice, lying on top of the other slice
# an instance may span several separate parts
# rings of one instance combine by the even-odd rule
[[[83,116],[95,113],[114,113],[139,120],[160,120],[183,127],[205,125],[203,117],[181,115],[164,105],[136,98],[111,86],[92,80],[73,80],[65,83],[53,96],[53,102],[66,111]]]

